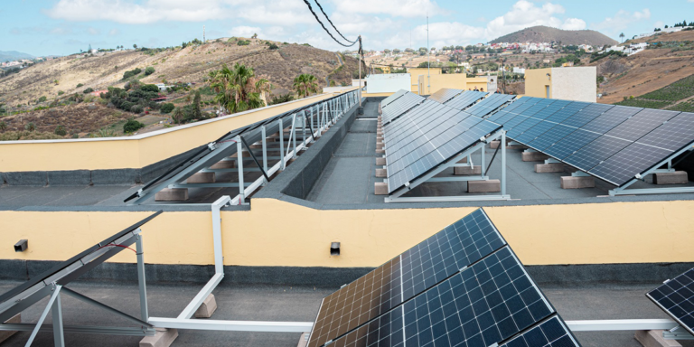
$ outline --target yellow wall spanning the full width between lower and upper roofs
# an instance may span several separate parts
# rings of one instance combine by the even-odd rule
[[[694,202],[609,202],[488,207],[526,265],[693,262]],[[474,208],[314,210],[256,199],[222,211],[224,263],[238,266],[376,267]],[[150,212],[0,211],[0,244],[29,240],[0,259],[64,260]],[[304,222],[296,223],[296,220]],[[145,262],[213,263],[211,212],[164,212],[142,227]],[[329,246],[341,242],[341,255]],[[115,262],[135,262],[121,252]]]

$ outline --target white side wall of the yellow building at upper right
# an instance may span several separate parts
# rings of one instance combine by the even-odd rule
[[[595,66],[552,68],[552,98],[572,101],[597,101]]]

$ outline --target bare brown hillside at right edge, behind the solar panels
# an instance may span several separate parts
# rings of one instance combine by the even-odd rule
[[[661,34],[641,42],[670,42],[661,48],[648,49],[629,57],[608,57],[590,65],[597,66],[601,103],[612,104],[624,97],[640,96],[669,86],[694,74],[694,31]],[[689,42],[689,43],[688,43]]]

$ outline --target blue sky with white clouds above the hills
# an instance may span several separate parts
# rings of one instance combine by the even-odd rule
[[[694,0],[319,1],[347,38],[361,33],[366,50],[426,46],[427,13],[435,47],[488,42],[532,25],[595,29],[618,40],[619,33],[631,37],[664,24],[694,22]],[[314,0],[309,2],[322,16]],[[3,0],[0,51],[39,56],[79,52],[89,44],[174,46],[202,39],[202,25],[208,39],[258,33],[269,40],[343,49],[303,0]]]

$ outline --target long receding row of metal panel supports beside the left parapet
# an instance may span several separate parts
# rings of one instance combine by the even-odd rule
[[[192,174],[208,171],[211,165],[220,162],[226,157],[239,153],[241,146],[238,144],[238,136],[243,136],[249,144],[254,144],[261,141],[265,147],[265,136],[267,134],[275,134],[279,132],[280,136],[283,136],[281,130],[286,128],[291,123],[290,136],[294,136],[294,150],[290,152],[289,148],[291,147],[291,144],[287,144],[286,154],[283,151],[281,154],[283,159],[280,160],[280,163],[273,165],[271,168],[264,168],[266,169],[265,171],[267,175],[271,176],[280,169],[284,169],[288,160],[295,158],[301,150],[307,148],[309,143],[313,142],[315,138],[320,137],[324,129],[335,124],[337,119],[342,117],[347,110],[353,108],[357,103],[357,91],[352,91],[333,98],[315,102],[303,108],[296,108],[278,115],[277,117],[271,117],[251,124],[248,127],[232,130],[227,135],[221,136],[217,141],[203,146],[203,148],[196,154],[184,160],[181,164],[169,170],[167,173],[145,184],[143,188],[129,196],[124,202],[132,201],[129,204],[142,204],[154,198],[155,193],[164,188],[185,188],[186,186],[183,182],[188,177],[192,176]],[[317,109],[315,112],[314,108]],[[310,120],[302,120],[301,127],[296,127],[297,116],[302,118],[301,115],[304,115],[308,110],[311,112],[311,116],[309,117]],[[303,131],[305,134],[308,122],[310,122],[310,124],[314,124],[314,119],[316,123],[318,123],[319,128],[315,129],[312,136],[303,136],[301,143],[296,145],[295,137],[298,136],[299,131]],[[285,126],[285,124],[287,126]],[[280,150],[284,149],[284,143],[280,142]],[[265,148],[263,149],[263,158],[263,162],[266,163],[267,149]],[[239,195],[232,199],[232,204],[234,205],[245,203],[245,196],[249,196],[250,193],[254,192],[260,186],[262,186],[263,183],[265,183],[264,177],[263,180],[258,179],[253,183],[243,183],[243,180],[241,179],[243,173],[242,161],[239,160],[238,162],[239,183],[226,183],[225,185],[230,187],[239,186]],[[189,187],[220,187],[222,184],[225,183],[194,183],[194,185],[189,185]]]

